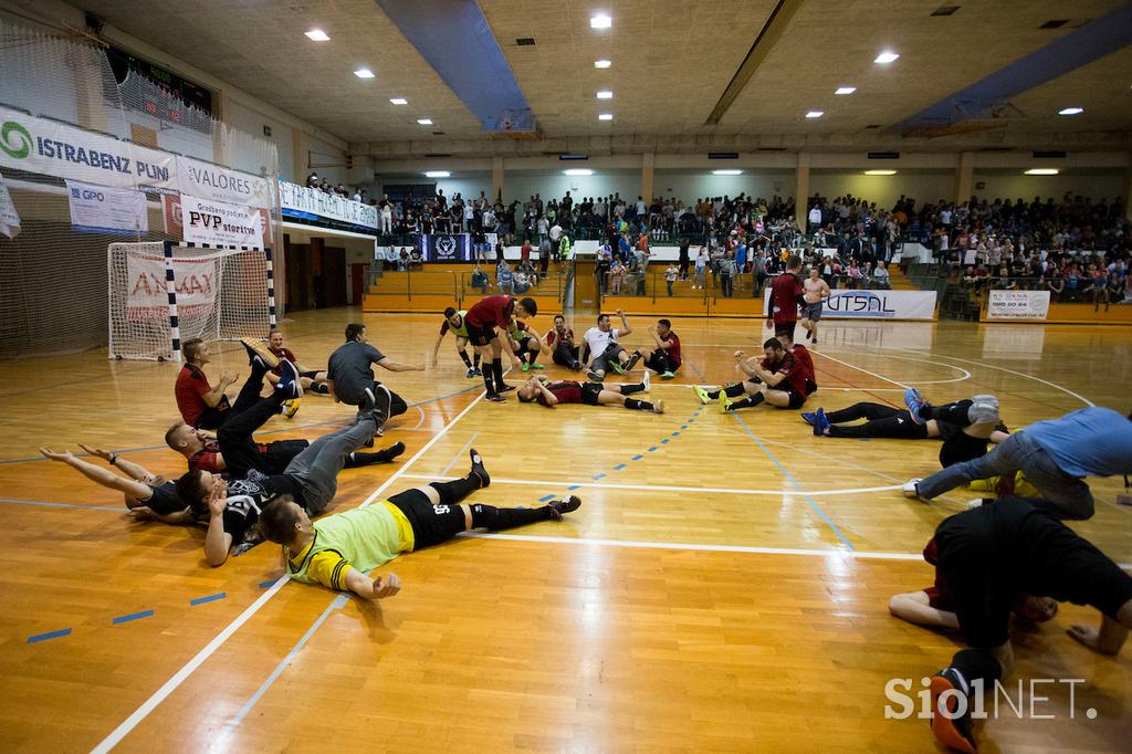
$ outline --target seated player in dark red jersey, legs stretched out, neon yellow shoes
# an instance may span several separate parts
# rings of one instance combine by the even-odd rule
[[[765,358],[757,361],[755,358],[745,359],[743,351],[736,351],[735,361],[748,378],[718,391],[705,391],[696,385],[696,397],[701,403],[719,401],[720,413],[748,409],[763,402],[778,409],[800,409],[817,389],[813,369],[807,369],[795,354],[783,349],[777,337],[763,343],[763,354]],[[730,400],[743,394],[747,397]]]

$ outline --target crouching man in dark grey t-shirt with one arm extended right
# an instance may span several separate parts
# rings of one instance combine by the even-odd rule
[[[377,434],[381,435],[385,420],[409,410],[404,399],[374,378],[377,365],[389,371],[424,371],[424,365],[404,365],[389,360],[369,344],[366,325],[346,325],[346,342],[331,354],[326,369],[326,385],[335,401],[358,406],[359,418],[375,412]]]

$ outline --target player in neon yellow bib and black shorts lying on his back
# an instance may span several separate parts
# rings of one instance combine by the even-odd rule
[[[263,512],[260,528],[268,540],[283,546],[291,579],[383,599],[401,591],[401,580],[395,574],[376,577],[368,574],[402,552],[439,545],[471,529],[499,531],[539,521],[560,521],[564,514],[582,505],[573,495],[537,508],[463,503],[469,495],[491,483],[474,448],[470,455],[472,468],[466,477],[430,482],[314,523],[301,505],[281,498]]]

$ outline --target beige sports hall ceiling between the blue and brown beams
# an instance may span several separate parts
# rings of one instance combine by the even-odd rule
[[[420,0],[424,1],[424,0]],[[372,0],[84,0],[109,24],[378,157],[753,151],[765,146],[957,151],[1132,148],[1132,48],[1014,97],[996,128],[941,138],[885,132],[1104,16],[1118,0],[801,0],[717,126],[706,126],[777,0],[481,0],[541,128],[515,142],[479,120]],[[958,5],[933,17],[941,5]],[[612,28],[590,28],[597,10]],[[1040,28],[1067,19],[1058,28]],[[315,43],[311,27],[332,37]],[[532,46],[516,38],[531,37]],[[873,59],[900,53],[890,66]],[[604,58],[612,67],[597,70]],[[352,71],[369,67],[376,78]],[[857,91],[833,94],[841,85]],[[598,101],[600,88],[614,91]],[[389,103],[403,96],[406,106]],[[1067,105],[1084,108],[1060,117]],[[809,110],[824,111],[806,119]],[[611,112],[609,122],[599,112]],[[434,126],[419,126],[429,117]],[[869,128],[869,127],[874,128]],[[434,131],[443,131],[434,135]]]

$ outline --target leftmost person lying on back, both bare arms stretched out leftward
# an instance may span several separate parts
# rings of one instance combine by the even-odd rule
[[[147,471],[140,464],[115,455],[108,451],[78,444],[80,448],[93,456],[100,457],[115,469],[121,469],[128,475],[119,477],[109,469],[75,457],[69,451],[57,453],[48,447],[41,447],[43,457],[59,463],[66,463],[80,474],[108,489],[121,492],[126,497],[126,507],[137,519],[151,519],[169,524],[187,524],[201,521],[195,517],[181,498],[177,496],[173,482],[164,477]]]

